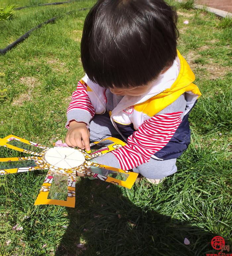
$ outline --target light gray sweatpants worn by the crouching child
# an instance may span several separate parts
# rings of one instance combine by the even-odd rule
[[[120,134],[114,128],[108,114],[95,114],[90,121],[89,126],[91,142],[102,140],[108,137],[121,138]],[[162,179],[174,174],[177,171],[176,159],[155,160],[150,158],[148,163],[133,168],[133,172],[140,173],[148,179]]]

